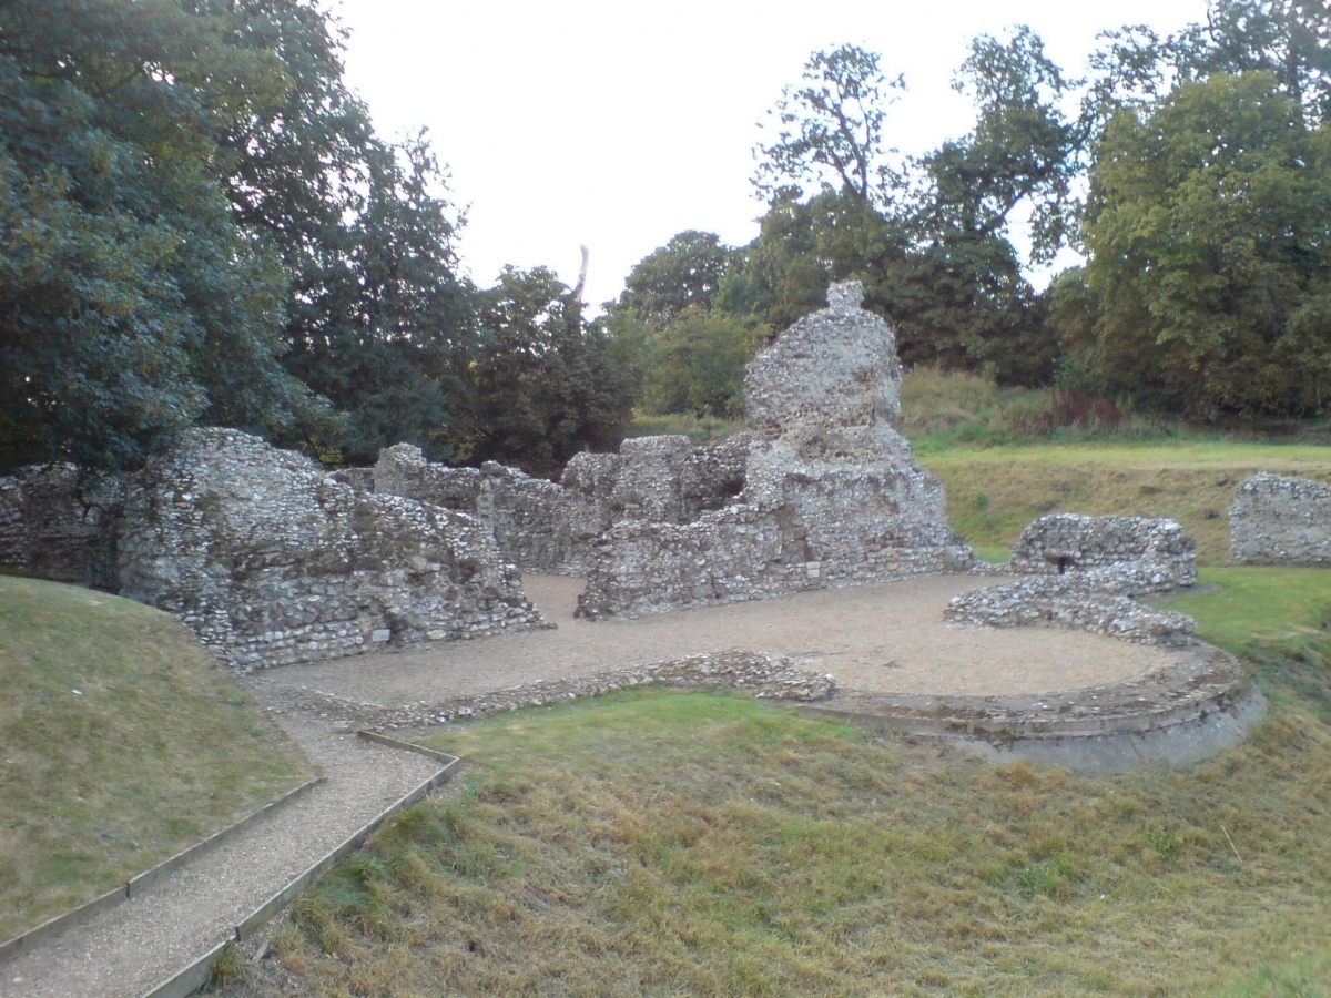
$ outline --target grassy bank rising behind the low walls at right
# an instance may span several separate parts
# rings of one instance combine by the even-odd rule
[[[1254,471],[1331,482],[1331,447],[1251,442],[1036,443],[917,451],[948,491],[948,519],[982,558],[1001,560],[1046,512],[1173,516],[1198,562],[1229,556],[1234,487]]]

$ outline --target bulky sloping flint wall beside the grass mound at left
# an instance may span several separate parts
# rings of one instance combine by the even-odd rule
[[[234,430],[190,430],[134,476],[118,576],[242,672],[543,625],[475,519]]]

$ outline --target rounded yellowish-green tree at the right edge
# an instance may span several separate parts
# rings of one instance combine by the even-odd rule
[[[1191,415],[1331,403],[1331,128],[1270,73],[1115,116],[1091,173],[1102,374]]]

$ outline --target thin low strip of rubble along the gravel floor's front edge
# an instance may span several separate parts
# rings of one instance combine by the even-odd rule
[[[731,687],[749,691],[760,699],[795,703],[827,700],[836,691],[836,681],[828,673],[800,669],[787,657],[732,648],[591,676],[542,680],[492,693],[455,696],[431,704],[382,707],[307,688],[282,691],[280,696],[286,707],[309,711],[319,720],[382,732],[425,728],[658,684],[673,689]]]

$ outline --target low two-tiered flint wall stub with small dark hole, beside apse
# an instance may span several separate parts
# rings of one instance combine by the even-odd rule
[[[1024,578],[954,596],[944,619],[1066,627],[1139,644],[1193,643],[1191,617],[1135,599],[1197,582],[1197,544],[1177,520],[1041,516],[1021,532],[1008,570]]]

